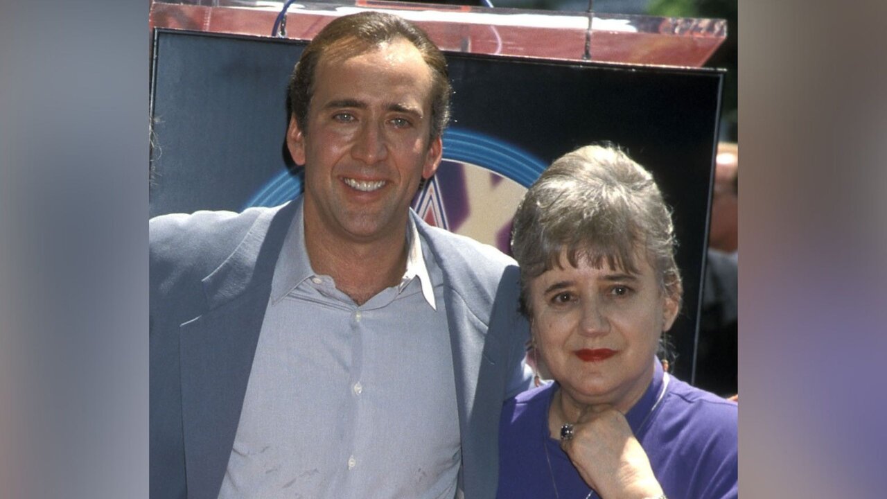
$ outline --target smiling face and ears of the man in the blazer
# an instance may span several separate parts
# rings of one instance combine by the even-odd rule
[[[431,69],[405,40],[320,59],[307,130],[291,119],[287,132],[305,165],[306,229],[354,242],[404,234],[420,178],[441,159],[431,88]]]

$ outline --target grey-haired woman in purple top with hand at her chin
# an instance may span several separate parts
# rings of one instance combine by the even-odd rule
[[[673,233],[652,176],[615,147],[566,154],[530,187],[512,251],[554,383],[506,402],[499,497],[738,495],[736,404],[656,359],[680,308]]]

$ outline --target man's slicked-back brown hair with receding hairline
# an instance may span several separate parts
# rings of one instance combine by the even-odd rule
[[[333,20],[320,30],[302,51],[302,57],[290,75],[287,115],[294,115],[302,131],[307,132],[314,78],[322,57],[346,59],[397,38],[404,38],[419,49],[422,59],[431,68],[431,137],[439,137],[450,121],[452,86],[446,59],[422,28],[384,12],[349,14]]]

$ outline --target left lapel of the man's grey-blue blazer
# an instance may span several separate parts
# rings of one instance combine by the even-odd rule
[[[215,499],[237,433],[271,278],[294,202],[256,218],[203,280],[208,312],[180,330],[182,419],[189,499]]]

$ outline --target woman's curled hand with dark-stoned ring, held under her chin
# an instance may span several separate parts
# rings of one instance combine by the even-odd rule
[[[587,408],[561,440],[585,482],[603,499],[658,497],[663,489],[625,416],[611,407]]]

